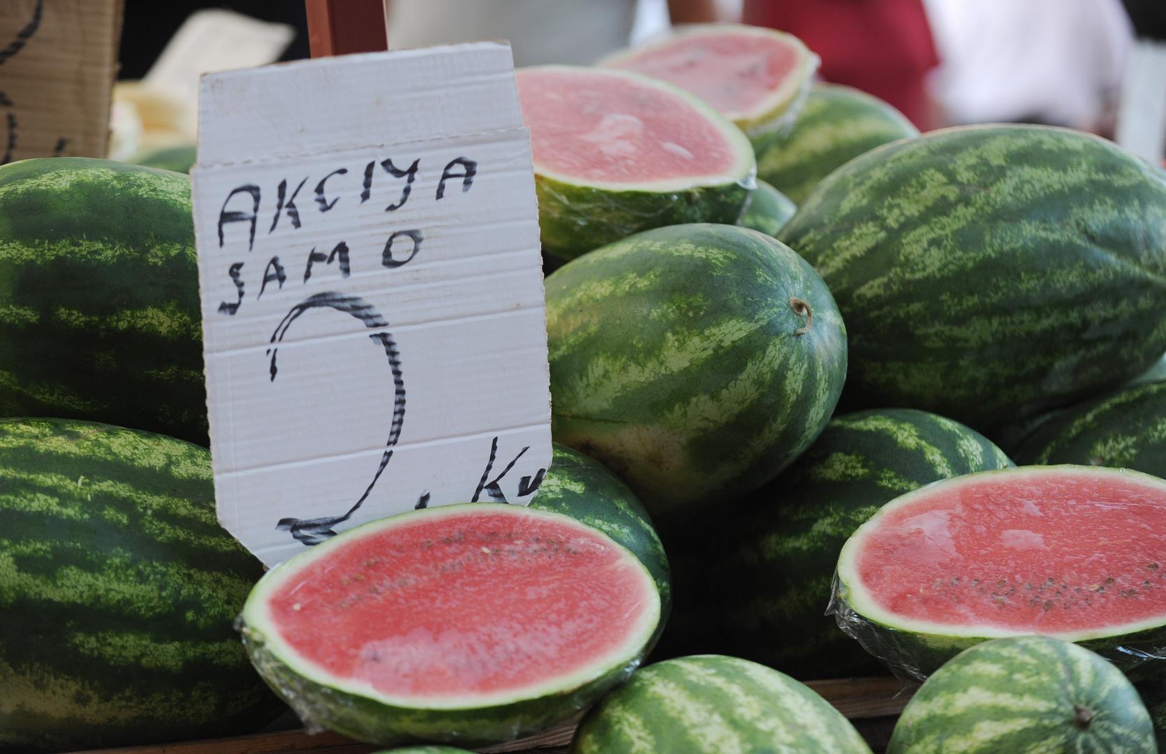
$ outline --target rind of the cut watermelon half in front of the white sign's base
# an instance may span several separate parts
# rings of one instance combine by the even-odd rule
[[[620,626],[626,639],[611,653],[603,667],[582,668],[568,677],[555,678],[520,695],[506,692],[476,697],[450,697],[442,702],[415,704],[394,698],[367,685],[330,676],[325,670],[303,660],[271,625],[264,609],[268,596],[298,568],[326,558],[349,540],[408,523],[416,517],[435,520],[461,515],[466,509],[490,506],[491,515],[503,512],[514,516],[546,516],[571,526],[586,526],[576,519],[550,510],[499,503],[458,503],[412,510],[372,521],[281,563],[255,585],[240,615],[240,630],[251,661],[265,681],[296,711],[309,727],[328,728],[368,744],[400,745],[435,741],[479,746],[510,741],[561,723],[593,703],[609,689],[625,681],[640,664],[660,618],[660,603],[654,590],[653,603],[639,625]],[[621,550],[639,568],[644,578],[651,573],[635,556],[606,535],[610,545]]]

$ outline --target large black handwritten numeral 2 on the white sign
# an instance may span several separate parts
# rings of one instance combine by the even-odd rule
[[[272,333],[271,341],[273,344],[282,343],[288,327],[292,326],[292,323],[295,322],[300,315],[304,313],[309,309],[318,309],[322,306],[336,309],[337,311],[351,315],[363,322],[366,327],[388,326],[388,320],[385,319],[385,317],[382,317],[372,304],[366,302],[360,296],[339,294],[336,291],[324,291],[309,296],[293,306],[275,327],[275,332]],[[324,540],[336,536],[336,531],[332,527],[337,523],[347,521],[352,514],[356,513],[361,505],[364,505],[364,501],[368,498],[368,493],[372,492],[372,488],[377,485],[381,473],[384,473],[385,467],[393,457],[393,448],[396,445],[396,441],[401,437],[401,427],[405,424],[405,378],[401,373],[400,352],[396,350],[396,341],[393,340],[393,336],[387,330],[374,332],[370,334],[368,338],[374,341],[379,341],[385,348],[385,355],[388,357],[388,368],[393,373],[393,423],[388,430],[388,441],[385,443],[385,451],[381,453],[380,465],[377,467],[377,473],[373,474],[372,481],[368,482],[368,486],[365,487],[364,494],[360,495],[360,498],[344,515],[323,516],[319,519],[307,520],[280,519],[279,523],[275,524],[276,529],[290,531],[294,538],[308,545],[319,544]],[[267,353],[272,357],[271,374],[272,381],[274,382],[275,375],[279,373],[279,369],[275,366],[275,357],[279,353],[279,347],[275,346],[268,348]],[[424,507],[426,502],[428,502],[428,493],[422,494],[421,498],[419,498],[417,507]]]

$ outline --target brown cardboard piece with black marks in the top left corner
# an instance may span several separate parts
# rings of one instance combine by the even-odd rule
[[[0,163],[104,157],[121,0],[0,2]]]

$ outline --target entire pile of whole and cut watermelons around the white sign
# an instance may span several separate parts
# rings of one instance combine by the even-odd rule
[[[0,167],[0,752],[286,703],[402,754],[580,713],[576,754],[861,753],[803,682],[888,672],[890,752],[1158,751],[1166,176],[816,65],[717,24],[520,70],[540,492],[266,575],[215,521],[189,181]]]

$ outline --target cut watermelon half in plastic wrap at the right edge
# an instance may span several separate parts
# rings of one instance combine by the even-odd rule
[[[988,639],[1079,642],[1128,672],[1166,660],[1166,481],[1023,466],[886,503],[838,558],[840,627],[928,676]]]

